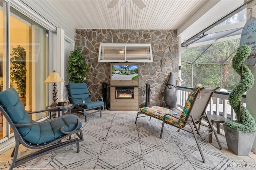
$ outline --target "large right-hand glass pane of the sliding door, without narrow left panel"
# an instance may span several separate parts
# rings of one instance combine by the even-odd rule
[[[10,8],[10,86],[27,111],[45,107],[46,29]],[[33,115],[36,121],[43,115]]]

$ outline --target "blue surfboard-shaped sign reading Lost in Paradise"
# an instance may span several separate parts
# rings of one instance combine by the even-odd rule
[[[245,65],[254,66],[256,63],[256,18],[250,18],[242,31],[240,45],[248,44],[251,47],[251,53],[244,61]]]

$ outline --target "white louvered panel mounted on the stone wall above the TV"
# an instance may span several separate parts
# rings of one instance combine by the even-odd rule
[[[153,62],[151,44],[101,43],[98,62]]]

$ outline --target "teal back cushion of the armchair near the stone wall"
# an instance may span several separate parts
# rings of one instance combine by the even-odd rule
[[[83,98],[85,103],[92,102],[89,98],[86,83],[68,83],[68,89],[70,97]],[[75,104],[75,108],[78,108],[78,104],[83,104],[81,99],[71,99],[71,102]]]

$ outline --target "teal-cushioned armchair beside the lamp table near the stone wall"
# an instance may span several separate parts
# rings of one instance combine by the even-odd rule
[[[72,112],[84,115],[85,122],[87,122],[87,115],[92,113],[104,111],[103,98],[100,95],[89,95],[86,83],[68,83],[66,85],[68,99],[70,103],[75,105]],[[90,97],[96,97],[98,101],[91,101]],[[86,112],[88,110],[93,110]]]

